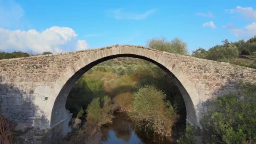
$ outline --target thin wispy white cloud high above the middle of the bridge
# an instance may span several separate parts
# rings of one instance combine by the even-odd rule
[[[123,11],[123,9],[115,9],[112,11],[112,15],[115,19],[133,19],[133,20],[142,20],[147,18],[152,13],[155,13],[156,9],[150,9],[144,13],[131,13]]]

